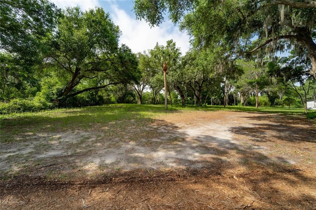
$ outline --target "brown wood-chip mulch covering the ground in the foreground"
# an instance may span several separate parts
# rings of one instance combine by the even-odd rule
[[[313,173],[133,170],[69,182],[17,176],[1,182],[1,209],[316,209]]]

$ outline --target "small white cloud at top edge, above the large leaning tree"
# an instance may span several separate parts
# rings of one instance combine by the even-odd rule
[[[65,7],[79,6],[82,11],[100,6],[98,0],[51,0],[57,7],[64,9]]]

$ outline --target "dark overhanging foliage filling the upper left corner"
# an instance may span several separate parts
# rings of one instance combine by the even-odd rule
[[[60,9],[46,0],[1,0],[0,5],[1,49],[27,73],[42,62],[42,41],[56,26]]]

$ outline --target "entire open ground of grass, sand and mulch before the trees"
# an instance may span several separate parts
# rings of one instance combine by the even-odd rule
[[[1,209],[315,209],[298,110],[116,105],[1,120]],[[291,112],[292,111],[292,112]]]

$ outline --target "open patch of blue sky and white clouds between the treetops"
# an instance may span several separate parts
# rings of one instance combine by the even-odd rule
[[[144,20],[136,20],[132,11],[134,2],[132,0],[105,1],[105,0],[51,0],[59,8],[79,6],[82,10],[94,7],[102,7],[108,12],[112,21],[122,31],[120,44],[126,44],[134,53],[153,49],[158,44],[165,45],[166,41],[173,39],[177,47],[184,55],[190,48],[189,36],[180,32],[168,18],[159,27],[150,28]]]

